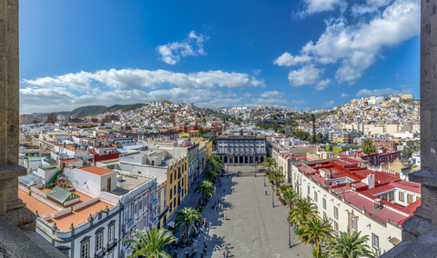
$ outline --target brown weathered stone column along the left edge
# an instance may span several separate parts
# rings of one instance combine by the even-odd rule
[[[35,231],[36,216],[18,198],[19,50],[18,0],[0,0],[0,215]]]

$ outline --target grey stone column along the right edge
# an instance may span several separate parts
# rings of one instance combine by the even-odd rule
[[[421,2],[422,169],[409,177],[410,181],[422,184],[422,204],[402,224],[402,241],[415,240],[437,226],[437,0]]]

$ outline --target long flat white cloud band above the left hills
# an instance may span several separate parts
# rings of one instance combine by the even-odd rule
[[[227,73],[220,70],[183,74],[166,70],[110,69],[109,71],[100,70],[96,73],[80,72],[77,74],[24,80],[26,84],[39,87],[70,86],[80,89],[88,89],[92,81],[124,90],[154,89],[165,84],[176,85],[179,88],[214,88],[218,86],[243,89],[249,86],[265,86],[264,80],[257,80],[255,76],[235,72]]]

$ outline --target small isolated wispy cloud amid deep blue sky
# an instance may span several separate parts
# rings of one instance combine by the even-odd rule
[[[203,42],[206,40],[208,40],[208,36],[196,35],[196,32],[192,31],[184,41],[158,45],[157,50],[161,55],[161,61],[168,65],[176,65],[181,56],[207,55],[203,49]]]

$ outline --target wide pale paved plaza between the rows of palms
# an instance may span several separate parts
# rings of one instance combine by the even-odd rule
[[[204,257],[222,257],[225,248],[229,257],[311,257],[312,247],[304,246],[291,229],[291,248],[289,248],[289,226],[287,222],[288,208],[279,203],[274,196],[275,207],[272,207],[271,187],[261,174],[254,177],[254,167],[229,167],[230,173],[243,171],[242,176],[220,178],[222,186],[216,183],[217,193],[209,199],[202,216],[212,223],[204,235],[198,237],[198,254],[200,257],[203,243],[208,245]],[[200,179],[201,180],[201,179]],[[230,191],[230,187],[235,192]],[[225,192],[223,192],[225,188]],[[183,201],[182,207],[195,207],[199,195],[192,193]],[[268,195],[265,191],[268,191]],[[217,198],[223,203],[223,209],[214,212],[211,206]],[[226,213],[227,219],[223,219]],[[177,233],[180,239],[180,233]],[[178,257],[185,257],[185,251],[191,252],[193,246],[178,248]],[[172,249],[173,252],[174,249]],[[173,254],[173,253],[172,253]]]

